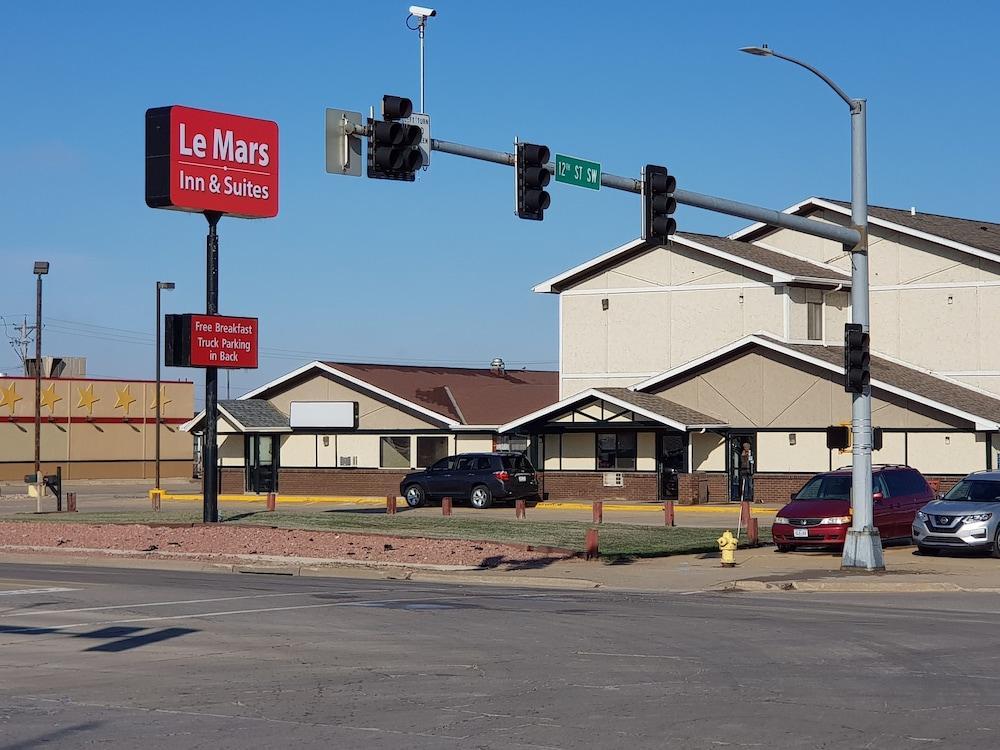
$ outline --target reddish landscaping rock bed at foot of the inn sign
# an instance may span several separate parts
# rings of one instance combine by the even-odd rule
[[[140,524],[0,523],[0,545],[159,553],[328,558],[421,565],[529,567],[572,557],[495,542],[387,537],[331,531],[250,526],[145,526]]]

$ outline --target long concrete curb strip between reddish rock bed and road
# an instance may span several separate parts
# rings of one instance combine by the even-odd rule
[[[28,550],[28,551],[15,551]],[[257,573],[270,575],[301,576],[312,578],[350,578],[362,571],[381,573],[387,580],[407,580],[422,583],[459,583],[491,586],[526,586],[548,589],[596,589],[601,584],[579,578],[535,577],[506,574],[492,576],[480,572],[483,568],[471,565],[431,565],[424,563],[365,562],[361,560],[328,560],[325,558],[283,558],[275,555],[219,555],[220,560],[184,559],[194,553],[161,553],[159,557],[134,557],[157,553],[126,552],[123,550],[96,550],[84,547],[0,547],[0,563],[26,565],[74,565],[94,568],[129,568],[142,570],[172,570],[197,573]],[[204,556],[202,556],[204,557]],[[248,564],[227,560],[252,558]],[[317,561],[318,560],[318,561]],[[262,561],[270,564],[254,564]],[[273,561],[273,562],[272,562]],[[312,562],[312,564],[310,564]]]

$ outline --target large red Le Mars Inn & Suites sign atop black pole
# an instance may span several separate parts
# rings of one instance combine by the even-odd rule
[[[146,110],[146,205],[278,214],[278,124],[191,107]]]

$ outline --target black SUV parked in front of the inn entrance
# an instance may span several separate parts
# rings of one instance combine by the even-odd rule
[[[473,508],[489,508],[494,500],[538,495],[538,480],[523,453],[461,453],[423,471],[403,477],[399,491],[406,504],[418,508],[428,498],[466,499]]]

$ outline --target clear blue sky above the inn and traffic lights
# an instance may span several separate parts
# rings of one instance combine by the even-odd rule
[[[276,120],[281,212],[224,219],[221,311],[261,319],[265,356],[233,396],[317,357],[555,368],[557,306],[530,289],[636,237],[636,195],[553,185],[513,216],[509,168],[435,153],[416,183],[324,170],[326,107],[418,95],[406,0],[45,2],[0,26],[0,315],[33,315],[45,353],[152,377],[154,284],[204,309],[201,217],[146,208],[143,115],[185,104]],[[767,42],[869,102],[873,204],[1000,221],[992,3],[438,0],[427,110],[444,140],[514,136],[638,176],[783,208],[848,198],[849,115],[819,80],[737,52]],[[681,207],[682,230],[745,222]],[[0,371],[17,358],[0,341]],[[197,370],[168,370],[192,378]],[[225,396],[225,378],[222,379]],[[200,394],[199,394],[200,398]]]

